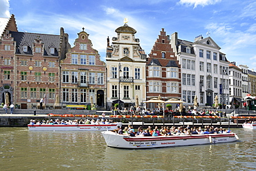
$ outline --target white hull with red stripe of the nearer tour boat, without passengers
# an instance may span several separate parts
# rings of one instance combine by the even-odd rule
[[[226,134],[192,134],[158,137],[130,137],[116,132],[103,131],[102,135],[109,147],[113,148],[164,148],[181,145],[199,145],[208,143],[228,143],[237,141],[235,133]]]

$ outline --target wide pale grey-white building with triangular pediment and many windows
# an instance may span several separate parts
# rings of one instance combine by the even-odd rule
[[[178,39],[172,34],[172,47],[181,64],[181,93],[184,105],[192,105],[194,96],[199,105],[212,105],[218,95],[219,103],[229,104],[228,65],[226,55],[211,37],[200,35],[194,42]]]

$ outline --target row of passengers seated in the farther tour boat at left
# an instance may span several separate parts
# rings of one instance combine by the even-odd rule
[[[78,120],[78,119],[74,119],[74,120],[60,120],[60,119],[51,119],[51,120],[30,120],[30,125],[40,125],[40,124],[50,124],[50,125],[55,125],[55,124],[63,124],[63,125],[77,125],[77,124],[91,124],[91,125],[102,125],[102,124],[110,124],[113,123],[113,120],[110,119],[91,119],[91,121],[89,119],[85,119],[85,120]]]

